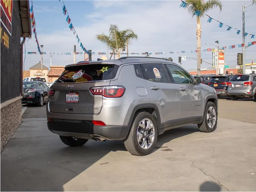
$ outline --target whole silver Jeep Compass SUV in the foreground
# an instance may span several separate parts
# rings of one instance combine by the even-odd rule
[[[49,89],[48,129],[69,146],[124,140],[133,155],[148,155],[166,130],[198,124],[217,128],[218,97],[167,59],[122,57],[67,65]]]

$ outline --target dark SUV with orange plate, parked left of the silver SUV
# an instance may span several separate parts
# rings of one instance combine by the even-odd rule
[[[223,95],[223,96],[228,96],[227,90],[228,90],[228,85],[227,82],[230,80],[230,78],[233,75],[223,75],[223,76],[213,76],[209,83],[208,86],[213,87],[216,90],[217,95]]]

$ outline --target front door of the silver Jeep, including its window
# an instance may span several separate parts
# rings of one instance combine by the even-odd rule
[[[180,98],[179,123],[193,121],[194,117],[203,114],[203,92],[201,87],[194,84],[194,79],[177,65],[166,64]]]

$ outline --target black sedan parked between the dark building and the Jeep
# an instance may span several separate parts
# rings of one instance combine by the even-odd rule
[[[48,101],[49,87],[41,81],[23,82],[23,104],[36,104],[42,107]]]

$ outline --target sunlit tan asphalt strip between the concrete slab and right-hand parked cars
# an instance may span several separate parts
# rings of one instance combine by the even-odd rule
[[[229,97],[219,97],[219,117],[248,123],[256,123],[256,102],[252,99],[231,101]]]

